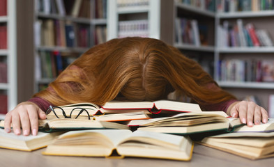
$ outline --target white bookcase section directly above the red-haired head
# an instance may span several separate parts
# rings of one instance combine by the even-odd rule
[[[173,32],[169,26],[173,26],[173,7],[173,3],[163,0],[108,1],[107,24],[112,29],[108,29],[107,40],[141,36],[161,39],[172,44]],[[121,28],[124,24],[125,29]],[[130,25],[145,28],[132,30],[128,28]]]

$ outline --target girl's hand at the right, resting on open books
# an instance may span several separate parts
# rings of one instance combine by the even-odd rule
[[[239,117],[241,122],[247,124],[248,127],[252,127],[253,122],[254,125],[259,125],[261,122],[266,123],[268,121],[267,111],[254,102],[234,102],[227,111],[233,118]]]

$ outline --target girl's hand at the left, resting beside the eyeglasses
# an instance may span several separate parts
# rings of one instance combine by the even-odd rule
[[[38,133],[38,119],[45,120],[45,112],[42,111],[33,102],[22,102],[18,104],[13,111],[6,114],[5,131],[11,132],[11,125],[13,125],[13,132],[17,135],[21,134],[21,127],[24,136],[30,134],[33,136]]]

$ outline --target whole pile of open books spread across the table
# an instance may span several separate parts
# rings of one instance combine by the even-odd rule
[[[79,103],[50,106],[46,113],[47,119],[39,120],[38,136],[27,136],[25,141],[22,141],[22,136],[6,134],[0,129],[3,141],[0,147],[30,151],[47,146],[43,152],[45,155],[189,161],[195,141],[211,146],[213,142],[208,143],[206,140],[213,135],[235,136],[238,132],[249,132],[250,136],[239,138],[252,136],[252,140],[255,135],[264,138],[256,138],[260,141],[261,148],[253,152],[253,157],[243,157],[259,159],[274,156],[269,151],[266,156],[257,154],[268,146],[270,148],[265,150],[273,147],[274,143],[270,142],[273,141],[273,133],[270,132],[274,131],[274,120],[250,128],[238,118],[229,118],[223,111],[201,111],[198,104],[168,100],[108,102],[104,106]],[[3,121],[0,127],[3,127]],[[6,140],[9,142],[5,142]],[[218,148],[220,149],[219,145]],[[238,150],[231,152],[236,153]]]

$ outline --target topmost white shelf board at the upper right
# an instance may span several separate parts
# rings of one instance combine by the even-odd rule
[[[243,18],[243,17],[269,17],[274,16],[274,10],[264,10],[258,12],[243,11],[234,13],[218,13],[216,17],[220,19],[233,19],[233,18]]]

